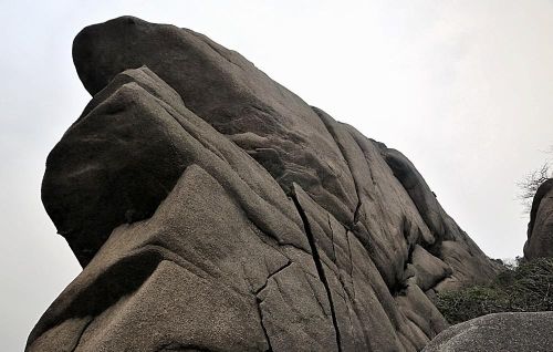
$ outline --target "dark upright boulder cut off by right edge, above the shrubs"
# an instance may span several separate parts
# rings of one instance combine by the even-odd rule
[[[536,190],[530,210],[524,258],[553,257],[553,179]]]

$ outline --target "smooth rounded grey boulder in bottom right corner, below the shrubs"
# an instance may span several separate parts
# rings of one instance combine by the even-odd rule
[[[442,331],[424,352],[551,352],[553,312],[498,313]]]

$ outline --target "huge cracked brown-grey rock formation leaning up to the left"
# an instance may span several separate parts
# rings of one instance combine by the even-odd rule
[[[124,17],[73,56],[42,199],[84,269],[27,351],[419,351],[497,272],[404,155],[208,38]]]

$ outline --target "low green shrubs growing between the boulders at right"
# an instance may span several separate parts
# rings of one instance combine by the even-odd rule
[[[553,310],[553,258],[505,267],[489,284],[440,292],[436,303],[451,324],[489,313]]]

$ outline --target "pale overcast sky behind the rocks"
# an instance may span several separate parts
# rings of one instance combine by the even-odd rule
[[[522,253],[528,219],[515,183],[553,144],[552,1],[0,0],[1,351],[23,349],[80,271],[40,184],[48,153],[90,100],[72,40],[122,14],[237,50],[406,154],[489,256]]]

